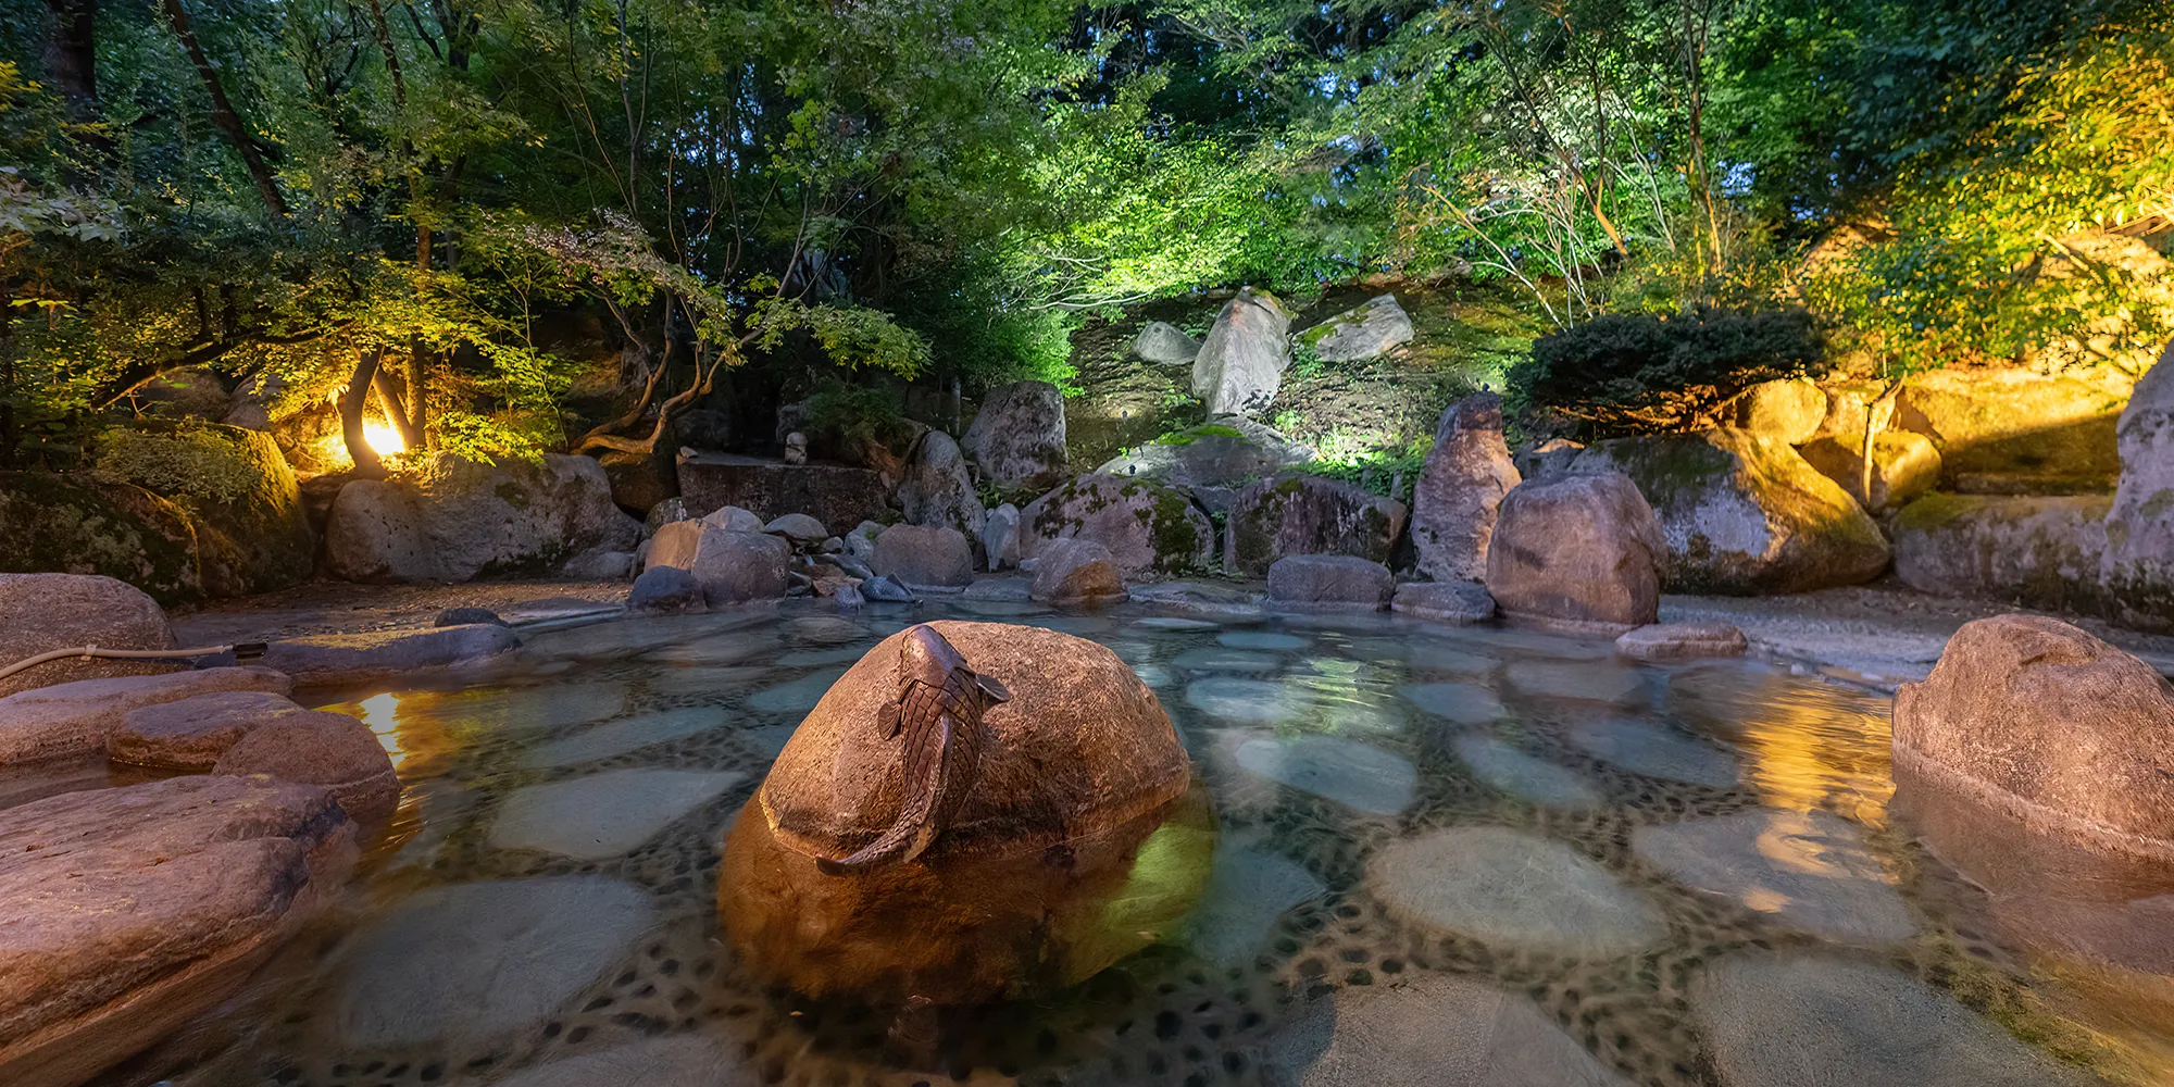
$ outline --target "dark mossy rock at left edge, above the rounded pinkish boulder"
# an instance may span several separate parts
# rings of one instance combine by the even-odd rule
[[[104,574],[161,604],[204,598],[196,517],[143,487],[0,472],[0,572]]]

